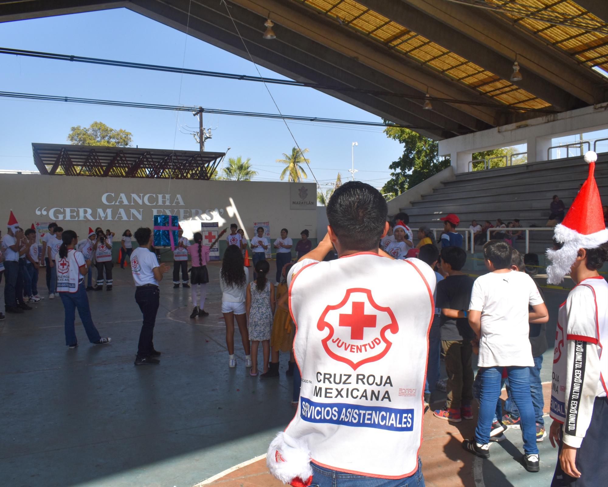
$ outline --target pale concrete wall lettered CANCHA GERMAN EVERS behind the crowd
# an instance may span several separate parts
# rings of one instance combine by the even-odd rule
[[[127,228],[152,227],[153,214],[178,215],[190,239],[201,222],[218,222],[220,229],[237,223],[248,239],[255,235],[254,222],[270,222],[272,237],[288,228],[294,245],[305,228],[311,239],[317,237],[314,183],[2,174],[0,208],[0,218],[8,222],[12,209],[24,229],[35,222],[57,222],[80,237],[89,226],[110,228],[117,235]]]

